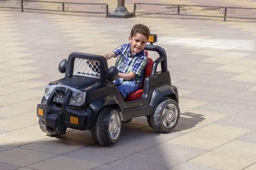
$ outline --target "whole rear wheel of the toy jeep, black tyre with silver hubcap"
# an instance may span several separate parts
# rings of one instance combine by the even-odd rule
[[[180,109],[175,100],[160,99],[154,113],[148,116],[148,124],[158,132],[169,132],[175,128],[180,118]]]

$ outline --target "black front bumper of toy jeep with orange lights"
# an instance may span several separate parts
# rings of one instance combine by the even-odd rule
[[[66,97],[61,108],[57,108],[53,104],[56,93],[66,93]],[[67,127],[79,130],[86,130],[91,123],[91,112],[88,109],[75,111],[70,109],[69,101],[72,96],[70,89],[55,88],[49,95],[46,103],[37,105],[37,116],[46,122],[46,128],[57,129],[59,134],[65,134]],[[43,113],[38,114],[38,109],[42,109]],[[41,114],[41,115],[40,115]],[[70,118],[71,117],[71,118]]]

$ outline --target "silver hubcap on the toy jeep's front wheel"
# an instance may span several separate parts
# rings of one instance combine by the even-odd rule
[[[116,140],[120,134],[121,121],[119,116],[114,113],[109,122],[109,134],[112,140]]]

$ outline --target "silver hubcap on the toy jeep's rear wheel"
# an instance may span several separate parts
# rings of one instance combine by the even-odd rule
[[[172,127],[177,122],[177,116],[178,113],[176,106],[173,104],[166,105],[162,114],[163,125],[167,128]]]

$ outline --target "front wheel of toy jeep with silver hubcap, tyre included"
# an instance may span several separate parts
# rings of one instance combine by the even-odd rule
[[[121,134],[119,112],[113,108],[102,108],[91,125],[93,140],[103,146],[117,142]]]

